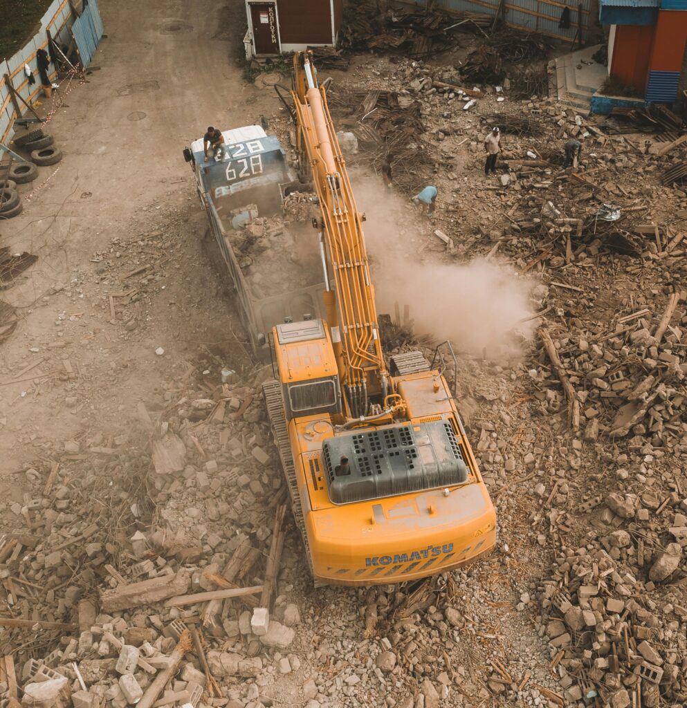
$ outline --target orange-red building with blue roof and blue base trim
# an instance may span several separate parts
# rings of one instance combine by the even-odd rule
[[[647,103],[679,98],[687,42],[687,0],[600,0],[610,26],[608,73]]]

